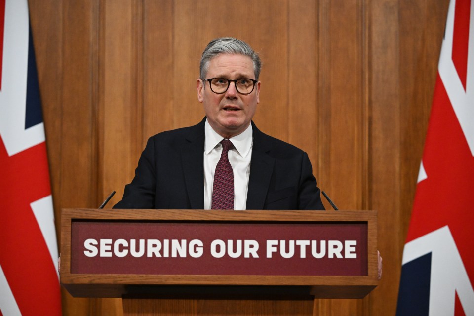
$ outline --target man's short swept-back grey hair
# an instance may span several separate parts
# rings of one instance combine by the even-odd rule
[[[211,40],[202,52],[201,62],[199,64],[199,78],[204,80],[209,70],[209,62],[219,54],[237,54],[248,56],[252,59],[255,79],[258,80],[262,62],[258,54],[246,42],[235,38],[217,38]],[[251,79],[251,78],[249,78]]]

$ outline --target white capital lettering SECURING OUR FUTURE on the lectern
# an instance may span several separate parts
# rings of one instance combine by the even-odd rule
[[[214,239],[205,247],[200,239],[88,238],[83,246],[89,258],[200,258],[206,251],[214,258],[357,258],[356,240]]]

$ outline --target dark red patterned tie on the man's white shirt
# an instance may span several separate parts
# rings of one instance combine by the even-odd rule
[[[234,209],[234,172],[229,163],[229,150],[234,148],[234,145],[228,139],[223,139],[221,144],[221,158],[214,173],[212,209]]]

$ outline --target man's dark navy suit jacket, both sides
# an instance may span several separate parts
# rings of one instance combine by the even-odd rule
[[[114,208],[203,209],[204,123],[152,136]],[[252,128],[246,209],[324,209],[308,155]]]

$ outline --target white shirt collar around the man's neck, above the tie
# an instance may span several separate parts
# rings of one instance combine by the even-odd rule
[[[205,143],[204,143],[204,152],[209,154],[223,139],[221,135],[219,135],[214,129],[212,129],[211,125],[206,119],[206,123],[204,125],[204,133],[205,133]],[[231,137],[229,140],[234,144],[238,154],[242,157],[246,157],[250,148],[252,147],[252,137],[253,137],[253,130],[252,124],[249,124],[248,127],[237,136]]]

